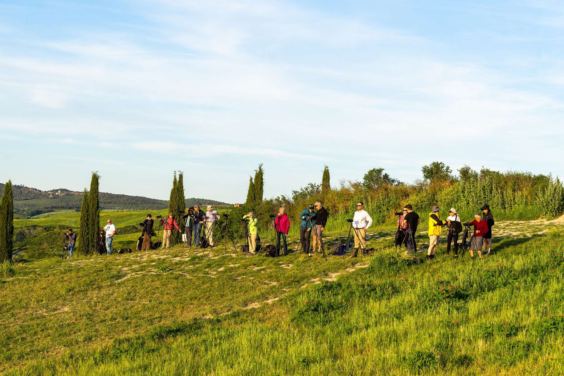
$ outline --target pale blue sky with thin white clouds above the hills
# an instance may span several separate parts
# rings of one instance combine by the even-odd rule
[[[563,176],[558,1],[0,0],[0,180],[245,199],[443,161]]]

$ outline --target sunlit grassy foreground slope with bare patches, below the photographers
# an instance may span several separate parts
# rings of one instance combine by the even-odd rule
[[[372,258],[327,263],[173,248],[15,266],[0,289],[0,367],[84,375],[561,374],[564,237],[535,235],[545,224],[497,229],[513,236],[495,238],[499,253],[474,263],[453,262],[443,248],[436,261],[411,265],[382,248],[389,238],[374,238]]]

